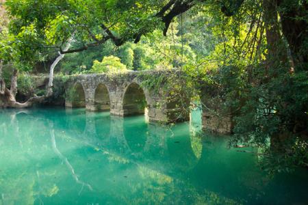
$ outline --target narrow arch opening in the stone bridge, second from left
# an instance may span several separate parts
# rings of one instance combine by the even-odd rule
[[[110,110],[110,97],[105,85],[99,84],[94,94],[94,106],[99,111]]]

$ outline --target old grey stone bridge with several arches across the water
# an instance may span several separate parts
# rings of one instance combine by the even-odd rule
[[[179,74],[176,70],[131,71],[118,74],[84,74],[70,77],[66,83],[66,107],[86,107],[88,111],[110,111],[111,115],[144,114],[149,122],[190,120],[190,99],[175,94],[174,87],[154,91],[144,83],[162,75]],[[172,84],[173,86],[174,83]],[[184,86],[184,85],[176,85]],[[185,99],[183,99],[185,98]],[[203,113],[203,128],[230,133],[231,120]]]

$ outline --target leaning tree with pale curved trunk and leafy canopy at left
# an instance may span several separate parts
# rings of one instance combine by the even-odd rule
[[[1,46],[3,61],[14,62],[11,88],[1,91],[1,100],[8,107],[28,107],[42,102],[52,93],[53,68],[66,53],[87,50],[112,40],[120,46],[127,40],[138,42],[142,35],[164,23],[165,33],[172,18],[185,12],[196,2],[188,1],[44,1],[6,2],[12,17],[7,41]],[[113,29],[113,30],[111,30]],[[75,49],[66,49],[75,35]],[[68,43],[67,43],[68,42]],[[80,46],[82,44],[82,46]],[[12,52],[13,51],[13,52]],[[34,96],[21,104],[16,102],[18,70],[30,70],[54,52],[60,56],[51,65],[47,96]],[[130,52],[132,53],[132,52]],[[132,60],[128,63],[132,66]],[[0,68],[2,70],[2,66]],[[2,86],[3,87],[3,86]]]

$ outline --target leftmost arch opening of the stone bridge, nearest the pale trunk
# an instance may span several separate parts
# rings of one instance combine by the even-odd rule
[[[86,107],[86,92],[81,83],[75,83],[66,90],[66,107]]]

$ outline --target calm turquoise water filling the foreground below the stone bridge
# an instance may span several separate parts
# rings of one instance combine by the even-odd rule
[[[307,170],[269,177],[260,155],[143,116],[0,111],[0,204],[307,204]]]

